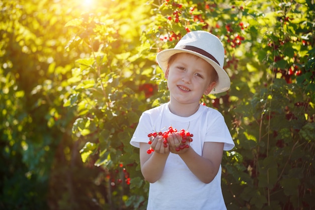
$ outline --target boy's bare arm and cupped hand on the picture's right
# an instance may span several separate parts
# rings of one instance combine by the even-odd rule
[[[169,141],[170,151],[178,154],[200,181],[210,183],[218,173],[224,143],[205,142],[200,156],[191,147],[177,152],[174,145],[179,143],[179,139],[181,139],[179,135],[172,135]]]

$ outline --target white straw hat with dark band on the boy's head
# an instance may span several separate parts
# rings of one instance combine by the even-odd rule
[[[230,79],[223,69],[224,48],[216,36],[206,31],[192,31],[183,36],[173,49],[157,53],[156,60],[163,72],[166,72],[169,58],[180,52],[197,55],[213,66],[218,74],[218,81],[210,94],[222,93],[229,89]]]

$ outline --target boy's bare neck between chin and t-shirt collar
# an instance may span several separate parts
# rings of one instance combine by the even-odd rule
[[[173,114],[176,114],[181,117],[189,117],[195,114],[199,109],[199,103],[193,104],[181,104],[177,102],[170,101],[169,109]]]

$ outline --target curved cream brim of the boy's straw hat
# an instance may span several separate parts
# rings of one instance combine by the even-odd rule
[[[164,73],[167,70],[169,58],[172,55],[180,53],[180,52],[186,52],[186,53],[190,53],[190,54],[196,55],[198,57],[201,57],[202,59],[206,60],[208,63],[210,63],[210,65],[213,66],[216,73],[218,74],[218,81],[209,94],[222,93],[222,92],[227,91],[230,88],[230,84],[231,84],[230,79],[229,79],[228,75],[226,74],[226,72],[224,71],[224,69],[219,64],[217,64],[215,61],[208,58],[207,56],[204,56],[198,52],[191,51],[188,49],[176,49],[176,48],[166,49],[166,50],[163,50],[163,51],[157,53],[157,55],[156,55],[157,63],[159,63],[159,65],[160,65],[160,67]]]

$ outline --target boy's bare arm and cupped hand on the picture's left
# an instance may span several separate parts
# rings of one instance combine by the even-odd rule
[[[151,142],[151,145],[140,143],[140,166],[144,179],[154,183],[161,178],[170,151],[168,148],[164,148],[163,141],[159,136],[152,139]],[[147,154],[146,151],[150,147],[154,149],[154,152]]]

